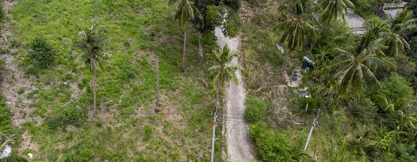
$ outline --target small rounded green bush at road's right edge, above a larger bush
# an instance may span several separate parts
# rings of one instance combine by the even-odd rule
[[[267,105],[260,99],[249,97],[245,102],[246,110],[244,118],[250,123],[265,120]]]

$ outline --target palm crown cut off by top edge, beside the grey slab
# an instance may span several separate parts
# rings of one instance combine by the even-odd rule
[[[350,0],[322,0],[319,5],[322,8],[320,21],[325,25],[330,24],[339,16],[345,21],[345,13],[348,13],[348,8],[355,7]]]

